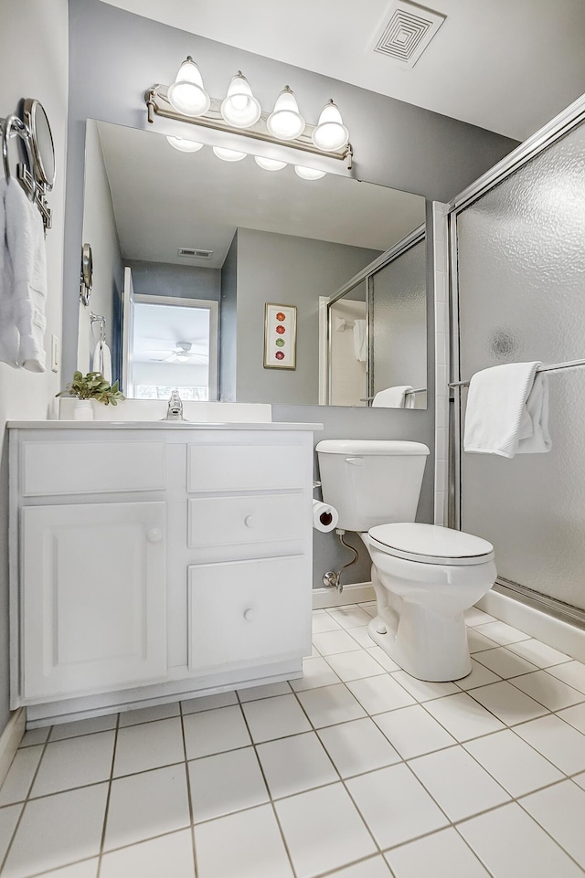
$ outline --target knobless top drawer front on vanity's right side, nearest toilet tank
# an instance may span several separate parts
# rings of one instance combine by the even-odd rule
[[[297,444],[193,444],[187,449],[188,492],[256,491],[311,484],[312,455]]]

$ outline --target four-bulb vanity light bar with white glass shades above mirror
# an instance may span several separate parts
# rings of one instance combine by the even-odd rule
[[[170,86],[154,85],[145,91],[144,101],[151,123],[156,114],[176,122],[203,125],[239,137],[253,137],[264,143],[338,159],[345,162],[347,168],[352,166],[349,132],[333,100],[325,104],[318,124],[312,125],[303,119],[294,92],[287,85],[276,99],[274,109],[262,112],[241,70],[232,77],[223,99],[211,98],[203,87],[197,64],[188,56],[176,81]],[[249,153],[255,150],[250,149]],[[286,159],[286,155],[283,157]],[[279,161],[282,160],[279,158]],[[290,164],[294,164],[293,161]],[[268,166],[265,167],[268,170]],[[270,169],[276,170],[276,167]]]

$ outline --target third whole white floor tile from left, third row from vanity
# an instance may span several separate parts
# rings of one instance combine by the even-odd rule
[[[253,747],[204,756],[188,763],[196,822],[268,801]]]

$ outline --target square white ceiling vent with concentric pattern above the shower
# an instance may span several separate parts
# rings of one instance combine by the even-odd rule
[[[392,58],[401,67],[414,67],[445,17],[423,6],[398,0],[389,11],[389,19],[374,51]]]

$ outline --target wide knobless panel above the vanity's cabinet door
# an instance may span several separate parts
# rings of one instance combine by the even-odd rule
[[[23,442],[28,496],[165,489],[163,442]]]

